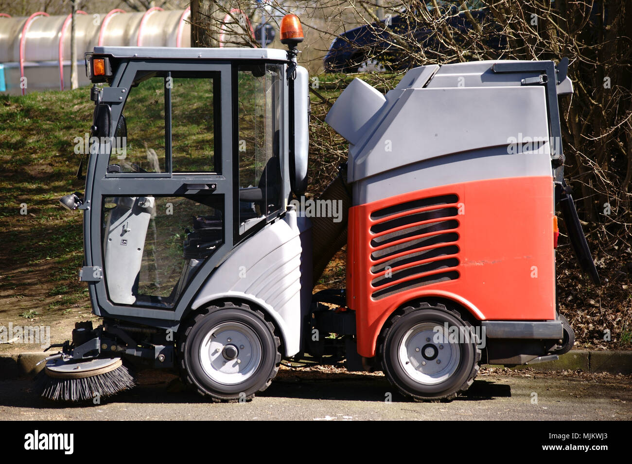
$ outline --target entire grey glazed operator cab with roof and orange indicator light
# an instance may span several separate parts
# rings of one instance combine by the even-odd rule
[[[87,55],[91,80],[109,84],[92,89],[84,200],[102,312],[181,313],[231,249],[285,213],[296,152],[288,64],[275,49]]]

